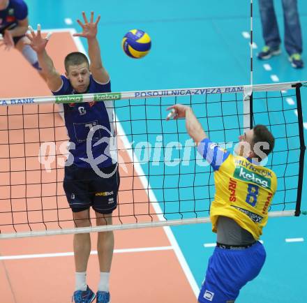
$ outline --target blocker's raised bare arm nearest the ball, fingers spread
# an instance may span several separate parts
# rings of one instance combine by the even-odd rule
[[[103,62],[100,56],[100,47],[97,36],[97,26],[100,20],[100,15],[98,15],[96,22],[93,22],[93,12],[91,12],[91,19],[88,22],[87,16],[82,12],[84,24],[77,20],[77,22],[82,27],[82,33],[73,34],[73,36],[80,36],[87,38],[87,44],[89,46],[89,59],[90,65],[89,70],[93,76],[93,79],[100,84],[106,84],[110,81],[110,76],[103,66]]]

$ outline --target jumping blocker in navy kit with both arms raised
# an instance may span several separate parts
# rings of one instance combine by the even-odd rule
[[[74,34],[87,38],[89,61],[80,52],[66,56],[64,64],[66,75],[60,75],[54,68],[52,59],[45,47],[47,39],[42,38],[40,29],[27,34],[31,47],[38,54],[38,61],[47,78],[47,85],[54,95],[104,93],[111,91],[110,77],[103,67],[100,47],[96,38],[98,16],[93,20],[93,12],[88,21],[82,13],[84,22],[77,20],[82,33]],[[75,96],[77,97],[77,96]],[[97,225],[112,224],[112,211],[117,207],[119,174],[117,170],[114,139],[113,103],[70,103],[64,104],[64,118],[70,139],[70,158],[65,167],[63,187],[73,211],[75,226],[90,226],[89,207],[96,212]],[[110,302],[109,276],[114,249],[113,232],[98,232],[98,260],[100,283],[95,295],[87,286],[86,272],[91,239],[89,233],[74,235],[75,253],[75,303]]]

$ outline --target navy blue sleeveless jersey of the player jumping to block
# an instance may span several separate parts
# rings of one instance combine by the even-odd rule
[[[69,80],[61,76],[63,84],[54,95],[77,94]],[[99,84],[90,75],[87,94],[111,91],[110,81]],[[82,168],[105,168],[117,163],[114,138],[114,101],[63,104],[65,124],[70,140],[68,161]]]

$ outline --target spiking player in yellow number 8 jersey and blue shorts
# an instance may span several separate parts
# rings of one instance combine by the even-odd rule
[[[167,119],[186,118],[188,134],[214,170],[216,194],[210,219],[217,244],[198,302],[232,303],[264,265],[266,253],[258,239],[267,223],[277,178],[260,161],[274,148],[274,137],[266,126],[257,125],[239,136],[234,156],[207,138],[191,108],[178,104],[168,110],[172,115]]]

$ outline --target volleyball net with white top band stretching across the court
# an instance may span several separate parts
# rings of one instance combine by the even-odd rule
[[[191,106],[209,138],[230,151],[246,129],[266,125],[276,138],[266,166],[278,177],[269,216],[299,216],[307,128],[301,109],[304,86],[288,82],[0,98],[0,239],[209,222],[214,174],[187,135],[184,119],[165,120],[166,109],[175,103]],[[114,103],[118,207],[112,226],[95,226],[92,220],[89,228],[75,228],[63,191],[68,138],[54,103],[93,101]]]

